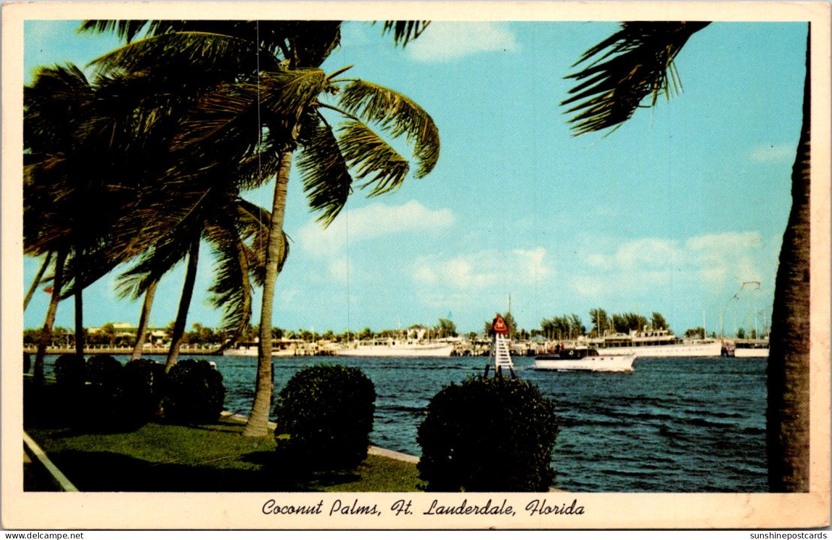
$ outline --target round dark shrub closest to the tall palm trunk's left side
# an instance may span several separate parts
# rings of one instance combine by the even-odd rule
[[[207,361],[182,360],[171,367],[165,381],[162,407],[176,424],[215,422],[225,403],[222,375]]]

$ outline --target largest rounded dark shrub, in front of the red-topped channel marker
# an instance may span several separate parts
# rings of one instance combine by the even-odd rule
[[[473,376],[428,403],[416,441],[428,491],[541,492],[557,439],[555,403],[525,380]]]

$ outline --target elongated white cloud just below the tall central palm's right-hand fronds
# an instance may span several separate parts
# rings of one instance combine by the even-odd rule
[[[297,234],[300,246],[315,257],[339,256],[344,246],[389,234],[432,232],[454,223],[450,209],[431,210],[416,200],[399,206],[373,203],[342,212],[328,228],[310,221]],[[330,268],[331,272],[331,268]]]

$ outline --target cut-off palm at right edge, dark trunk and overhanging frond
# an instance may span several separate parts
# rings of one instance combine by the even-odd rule
[[[678,87],[673,60],[708,22],[625,22],[583,54],[580,82],[562,105],[576,104],[575,135],[615,130],[661,92]],[[588,62],[588,63],[587,63]],[[577,65],[576,64],[576,65]],[[769,488],[809,491],[810,335],[810,47],[807,38],[803,125],[791,175],[792,207],[780,250],[767,368]]]

